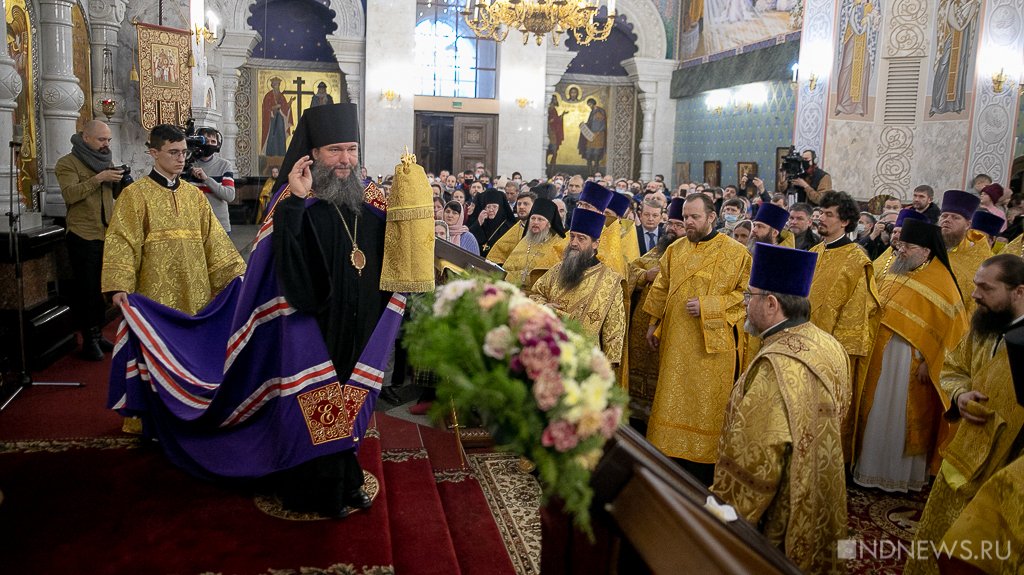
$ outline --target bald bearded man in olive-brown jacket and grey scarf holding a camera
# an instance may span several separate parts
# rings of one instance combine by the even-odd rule
[[[103,267],[103,236],[114,214],[114,198],[132,182],[127,166],[115,168],[111,161],[111,128],[93,120],[71,137],[71,153],[57,160],[60,195],[68,206],[68,256],[77,285],[72,306],[82,331],[82,357],[103,359],[114,349],[100,333],[106,304],[99,292]]]

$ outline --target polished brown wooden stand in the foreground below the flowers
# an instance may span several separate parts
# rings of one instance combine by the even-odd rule
[[[711,492],[633,429],[608,442],[591,485],[594,543],[557,505],[542,510],[545,575],[801,573],[751,524],[706,510]]]

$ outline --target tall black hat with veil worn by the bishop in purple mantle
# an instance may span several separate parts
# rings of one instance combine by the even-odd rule
[[[288,173],[314,147],[359,141],[359,115],[354,103],[332,103],[307,107],[292,132],[274,189],[288,183]]]

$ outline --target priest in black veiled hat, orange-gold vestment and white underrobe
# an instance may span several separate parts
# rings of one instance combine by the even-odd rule
[[[949,434],[939,388],[947,351],[968,320],[939,227],[906,220],[879,279],[882,317],[867,375],[854,392],[853,480],[888,491],[920,490],[938,471]]]

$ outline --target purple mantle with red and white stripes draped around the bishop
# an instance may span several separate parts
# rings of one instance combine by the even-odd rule
[[[268,219],[245,277],[196,316],[132,294],[122,308],[110,407],[140,415],[177,466],[255,478],[358,447],[406,309],[395,294],[342,384],[316,320],[278,286]]]

